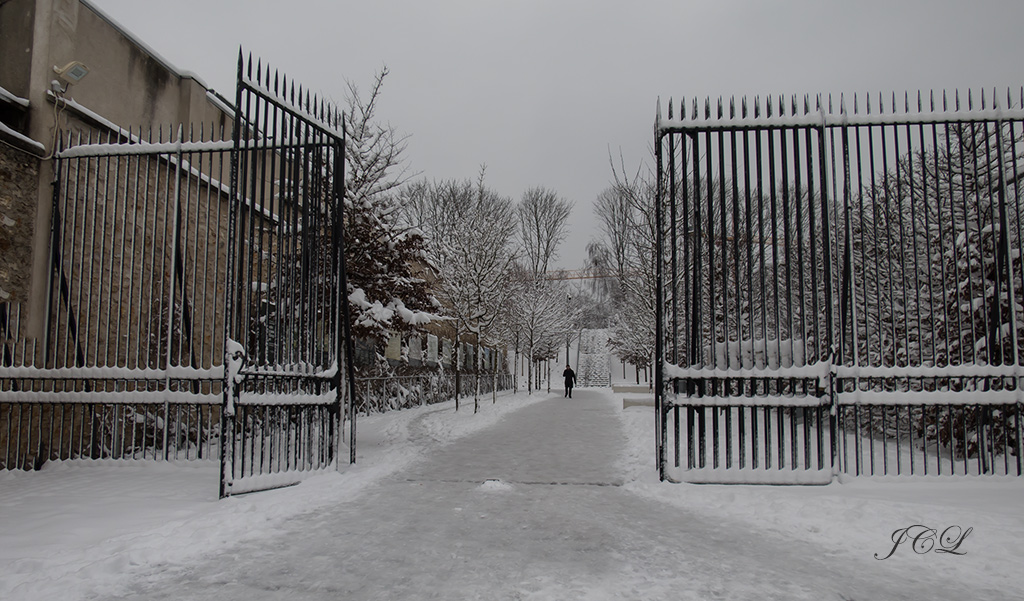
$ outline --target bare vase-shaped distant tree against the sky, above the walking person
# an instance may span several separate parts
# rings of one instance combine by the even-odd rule
[[[527,189],[517,209],[519,235],[526,266],[535,276],[548,272],[551,261],[558,256],[558,245],[567,233],[565,222],[572,203],[560,199],[544,187]]]

